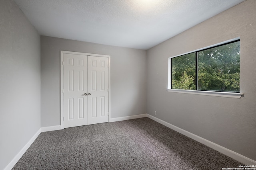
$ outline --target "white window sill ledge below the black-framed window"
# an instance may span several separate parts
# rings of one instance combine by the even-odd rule
[[[178,90],[178,89],[167,89],[168,92],[175,93],[186,93],[186,94],[199,94],[205,96],[218,96],[225,98],[241,98],[243,94],[234,92],[211,92],[211,91],[199,91],[199,90]]]

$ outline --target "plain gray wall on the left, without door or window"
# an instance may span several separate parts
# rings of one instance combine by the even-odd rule
[[[12,0],[0,1],[0,169],[40,129],[40,36]]]

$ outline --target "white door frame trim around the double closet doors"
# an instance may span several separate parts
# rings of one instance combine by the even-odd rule
[[[64,129],[64,100],[63,100],[63,54],[76,54],[76,55],[90,55],[95,57],[108,57],[108,122],[111,117],[111,103],[110,103],[110,55],[80,53],[72,51],[60,51],[60,126]]]

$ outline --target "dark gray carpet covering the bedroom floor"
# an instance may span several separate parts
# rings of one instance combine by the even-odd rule
[[[40,133],[13,170],[221,170],[239,165],[140,118]]]

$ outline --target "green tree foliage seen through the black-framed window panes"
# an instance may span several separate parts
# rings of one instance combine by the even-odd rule
[[[240,91],[240,40],[171,58],[171,88]]]

